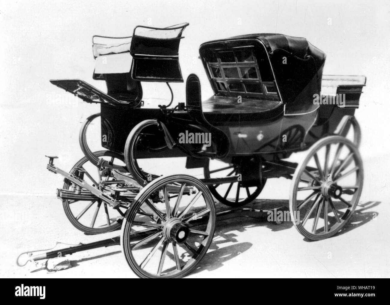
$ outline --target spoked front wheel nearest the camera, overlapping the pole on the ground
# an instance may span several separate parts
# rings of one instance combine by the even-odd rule
[[[207,187],[195,177],[172,175],[147,184],[122,224],[121,245],[141,278],[179,278],[195,269],[215,231]]]

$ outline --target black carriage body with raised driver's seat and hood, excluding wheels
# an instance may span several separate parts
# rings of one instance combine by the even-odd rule
[[[183,82],[178,50],[187,25],[137,27],[133,37],[114,39],[114,44],[96,41],[110,37],[95,36],[94,78],[106,81],[107,94],[80,80],[51,81],[84,101],[101,103],[103,147],[123,153],[130,131],[139,122],[156,119],[176,142],[186,131],[212,133],[214,151],[200,158],[287,158],[333,134],[341,119],[353,116],[359,106],[364,76],[323,76],[325,54],[304,38],[281,34],[241,35],[202,44],[200,58],[214,95],[202,101],[197,85],[192,101],[187,94],[186,111],[141,106],[141,81]],[[151,30],[137,33],[139,28]],[[156,33],[163,33],[162,38]],[[322,101],[338,94],[345,96],[343,107],[314,102],[315,96]],[[191,112],[189,103],[196,111]],[[174,148],[168,153],[145,151],[140,157],[186,155]]]

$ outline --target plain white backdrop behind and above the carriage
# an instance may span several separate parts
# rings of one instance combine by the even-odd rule
[[[199,45],[240,34],[305,37],[326,53],[324,74],[367,76],[356,111],[363,131],[361,152],[364,160],[383,160],[383,167],[388,167],[389,11],[388,1],[352,0],[4,3],[0,9],[0,192],[53,194],[61,179],[46,170],[44,155],[60,156],[56,164],[64,169],[81,158],[80,122],[99,112],[99,106],[81,100],[74,105],[47,105],[46,99],[63,93],[50,79],[80,78],[106,90],[104,82],[92,80],[92,35],[129,36],[136,25],[166,27],[182,22],[190,23],[180,46],[183,77],[200,76],[203,98],[212,92],[197,59]],[[183,101],[184,84],[172,88],[174,103]],[[144,97],[152,96],[169,98],[165,84],[145,85]],[[366,171],[366,181],[367,177],[378,179],[376,168]],[[380,187],[390,184],[388,175],[381,179]]]

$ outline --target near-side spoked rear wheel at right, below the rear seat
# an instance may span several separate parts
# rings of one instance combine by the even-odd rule
[[[316,142],[295,170],[290,213],[306,238],[333,236],[347,223],[363,187],[363,165],[357,147],[341,136]]]

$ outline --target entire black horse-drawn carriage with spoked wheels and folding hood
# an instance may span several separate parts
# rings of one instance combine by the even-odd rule
[[[242,35],[200,46],[214,95],[202,100],[199,78],[190,74],[185,103],[174,105],[169,83],[184,82],[179,43],[186,26],[94,36],[93,78],[106,82],[107,93],[82,80],[50,81],[101,105],[80,131],[85,156],[69,172],[53,165],[55,157],[48,164],[65,176],[57,195],[71,223],[88,234],[122,227],[123,253],[138,276],[182,277],[212,242],[215,199],[241,206],[268,179],[285,177],[298,231],[313,240],[339,232],[362,192],[354,113],[365,77],[323,76],[325,54],[304,38]],[[142,82],[167,83],[170,103],[145,105]],[[97,117],[107,150],[92,152],[86,132]],[[299,164],[286,160],[301,151]],[[203,179],[148,168],[150,158],[183,156],[187,168],[203,168]]]

